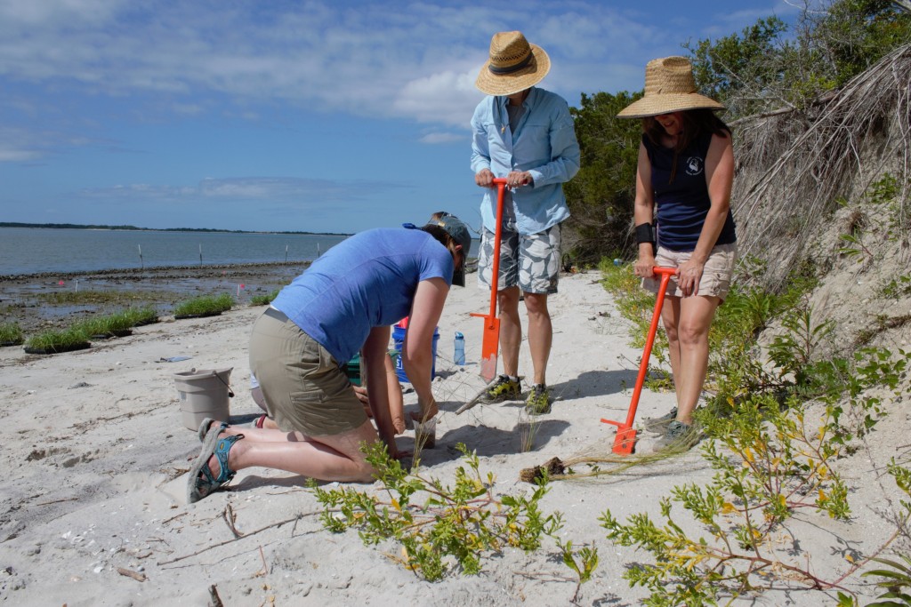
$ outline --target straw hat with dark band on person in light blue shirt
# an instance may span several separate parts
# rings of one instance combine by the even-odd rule
[[[522,32],[497,32],[490,39],[490,59],[475,86],[487,95],[513,95],[537,85],[550,71],[544,49],[530,45]]]

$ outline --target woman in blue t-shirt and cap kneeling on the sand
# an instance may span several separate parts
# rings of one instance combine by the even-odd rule
[[[371,481],[362,443],[377,431],[342,364],[360,350],[371,410],[391,456],[395,445],[384,359],[389,327],[409,317],[402,362],[420,418],[436,413],[433,335],[453,284],[465,286],[471,237],[454,216],[423,228],[378,228],[329,249],[281,289],[253,326],[250,368],[279,430],[213,421],[189,472],[188,501],[200,501],[237,470],[261,466],[321,481]]]

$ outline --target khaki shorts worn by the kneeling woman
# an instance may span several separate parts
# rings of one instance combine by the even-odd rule
[[[277,309],[267,309],[253,325],[250,369],[281,430],[328,436],[367,420],[338,361]]]

